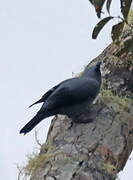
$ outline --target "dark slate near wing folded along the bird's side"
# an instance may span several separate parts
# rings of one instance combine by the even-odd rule
[[[42,105],[40,111],[50,111],[60,107],[82,103],[95,91],[95,83],[87,78],[73,78],[62,83]],[[94,89],[93,89],[94,88]],[[93,89],[93,90],[92,90]]]

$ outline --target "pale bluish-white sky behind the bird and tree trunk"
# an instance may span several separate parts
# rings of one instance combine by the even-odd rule
[[[113,14],[118,9],[112,5]],[[37,146],[34,131],[19,134],[40,106],[27,107],[110,44],[112,23],[92,40],[97,22],[88,0],[0,1],[0,179],[17,179],[16,164],[23,165]],[[36,128],[42,143],[51,119]],[[132,165],[129,160],[121,180],[131,179]]]

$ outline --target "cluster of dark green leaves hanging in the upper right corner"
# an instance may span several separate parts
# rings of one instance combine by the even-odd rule
[[[110,16],[110,6],[112,3],[112,0],[89,0],[91,2],[91,4],[94,6],[97,16],[98,18],[101,17],[101,13],[102,13],[102,8],[104,3],[106,2],[106,9],[107,12],[109,14],[108,17],[102,19],[94,28],[93,33],[92,33],[92,38],[96,39],[98,34],[100,33],[100,31],[102,30],[102,28],[112,19],[114,18],[118,18],[121,20],[121,22],[119,22],[118,24],[114,25],[112,27],[112,32],[111,32],[111,36],[112,36],[112,40],[113,41],[118,41],[119,37],[122,33],[122,30],[124,28],[124,24],[128,24],[128,14],[129,14],[129,10],[132,4],[133,0],[120,0],[120,4],[121,4],[121,13],[123,17],[114,17],[114,16]],[[131,28],[133,28],[131,25],[129,25]]]

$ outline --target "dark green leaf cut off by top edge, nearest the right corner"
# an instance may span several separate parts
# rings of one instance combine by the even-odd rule
[[[125,20],[127,20],[127,16],[132,4],[132,0],[120,0],[120,2],[121,2],[121,12]]]

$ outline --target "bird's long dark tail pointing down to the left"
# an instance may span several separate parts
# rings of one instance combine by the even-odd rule
[[[20,134],[24,133],[24,135],[30,132],[37,124],[40,123],[47,116],[44,113],[37,113],[21,130]]]

